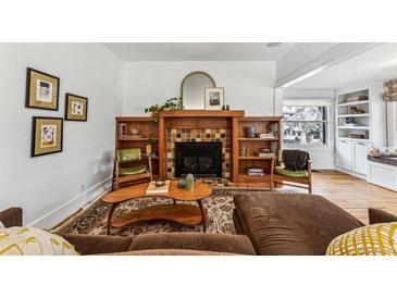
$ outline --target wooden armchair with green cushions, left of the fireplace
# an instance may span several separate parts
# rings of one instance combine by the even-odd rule
[[[114,159],[113,190],[123,184],[152,179],[150,156],[141,154],[140,148],[120,149]]]

